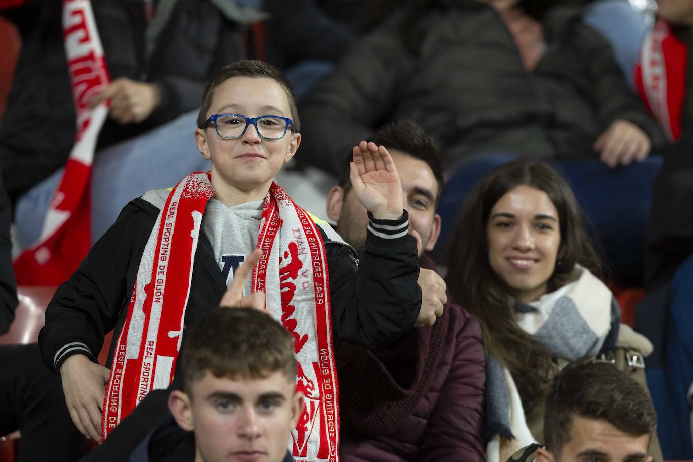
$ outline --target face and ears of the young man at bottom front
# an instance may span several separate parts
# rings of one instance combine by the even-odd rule
[[[195,432],[195,462],[281,462],[303,396],[277,371],[263,379],[231,380],[207,373],[192,396],[173,391],[168,406],[178,425]]]

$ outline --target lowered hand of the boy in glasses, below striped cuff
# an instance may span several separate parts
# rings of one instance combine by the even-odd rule
[[[110,370],[85,355],[71,355],[60,364],[65,404],[75,427],[87,438],[101,440],[101,408]]]

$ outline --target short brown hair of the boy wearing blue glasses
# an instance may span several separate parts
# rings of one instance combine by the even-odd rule
[[[271,78],[277,82],[286,92],[286,98],[289,100],[289,109],[291,112],[291,121],[294,132],[301,131],[301,122],[299,121],[299,112],[296,108],[296,96],[286,75],[272,64],[268,64],[260,60],[240,60],[232,62],[216,71],[207,86],[204,87],[202,93],[202,106],[198,112],[198,128],[202,128],[202,124],[207,121],[207,112],[212,105],[212,99],[216,89],[232,77],[252,77],[252,78]],[[243,114],[246,115],[246,114]],[[258,114],[263,115],[263,114]]]

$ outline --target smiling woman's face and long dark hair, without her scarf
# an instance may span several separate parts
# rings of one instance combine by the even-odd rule
[[[448,286],[482,321],[486,348],[511,372],[523,371],[514,378],[532,407],[548,387],[552,363],[514,320],[518,299],[536,301],[584,270],[602,273],[577,199],[546,164],[511,161],[468,195],[453,236]]]

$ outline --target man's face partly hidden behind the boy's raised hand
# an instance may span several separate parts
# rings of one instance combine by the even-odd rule
[[[426,162],[397,150],[389,150],[389,153],[402,181],[409,229],[421,236],[423,254],[423,251],[433,249],[440,234],[440,215],[435,213],[438,183]],[[349,188],[345,195],[340,186],[332,188],[327,199],[327,214],[337,222],[340,236],[362,253],[368,216],[353,189]]]

